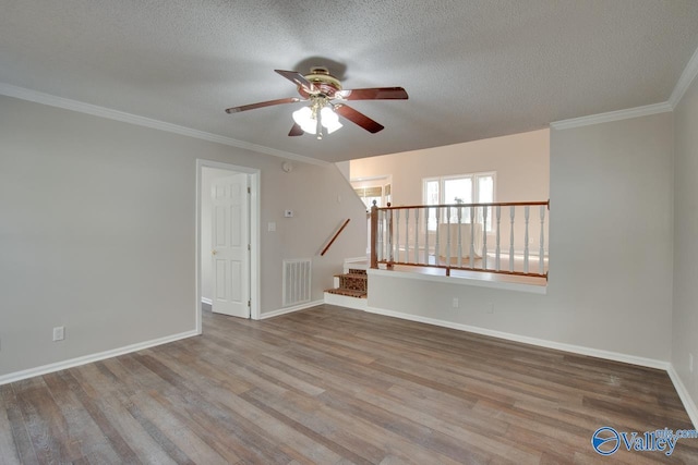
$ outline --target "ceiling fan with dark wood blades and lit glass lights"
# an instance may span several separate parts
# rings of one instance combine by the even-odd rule
[[[338,115],[373,134],[384,129],[383,125],[349,107],[345,101],[407,100],[408,98],[407,91],[402,87],[342,89],[339,79],[329,74],[329,70],[322,66],[312,68],[310,74],[305,75],[297,71],[274,71],[296,84],[300,97],[279,98],[276,100],[261,101],[258,103],[243,105],[241,107],[232,107],[226,109],[226,112],[238,113],[256,108],[310,101],[309,107],[303,107],[293,112],[294,123],[288,135],[300,136],[303,133],[310,133],[315,134],[317,138],[321,139],[323,137],[323,130],[325,130],[327,134],[332,134],[341,127]]]

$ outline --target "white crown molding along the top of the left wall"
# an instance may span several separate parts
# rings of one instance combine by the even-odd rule
[[[145,117],[139,117],[137,114],[112,110],[110,108],[99,107],[92,103],[85,103],[77,100],[71,100],[63,97],[57,97],[50,94],[44,94],[40,91],[27,89],[24,87],[13,86],[7,83],[0,83],[0,95],[14,97],[22,100],[33,101],[36,103],[48,105],[50,107],[62,108],[64,110],[71,110],[71,111],[77,111],[80,113],[92,114],[93,117],[107,118],[109,120],[116,120],[124,123],[135,124],[143,127],[165,131],[168,133],[179,134],[182,136],[194,137],[197,139],[208,140],[216,144],[227,145],[230,147],[237,147],[245,150],[256,151],[260,154],[272,155],[274,157],[284,158],[287,160],[294,160],[294,161],[309,163],[309,164],[316,164],[321,167],[327,167],[333,164],[324,160],[317,160],[315,158],[304,157],[302,155],[293,154],[290,151],[277,150],[275,148],[265,147],[257,144],[250,144],[243,140],[234,139],[232,137],[226,137],[218,134],[207,133],[204,131],[193,130],[191,127],[167,123],[165,121],[153,120]]]

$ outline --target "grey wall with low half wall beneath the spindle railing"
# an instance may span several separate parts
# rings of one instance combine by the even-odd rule
[[[550,147],[546,295],[372,276],[369,305],[669,362],[672,115],[551,131]]]

